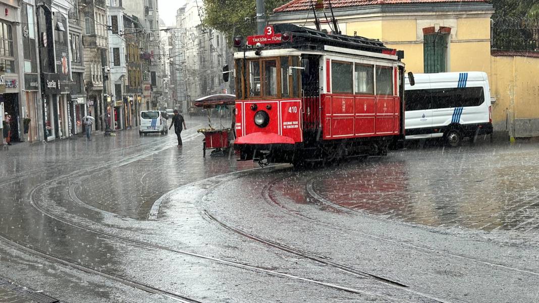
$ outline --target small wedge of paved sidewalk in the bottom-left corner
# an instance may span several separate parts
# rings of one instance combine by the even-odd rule
[[[56,303],[57,299],[39,291],[20,287],[0,277],[0,302],[2,303]]]

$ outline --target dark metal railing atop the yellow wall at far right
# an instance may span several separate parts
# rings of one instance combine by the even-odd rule
[[[491,36],[493,50],[539,51],[539,19],[493,19]]]

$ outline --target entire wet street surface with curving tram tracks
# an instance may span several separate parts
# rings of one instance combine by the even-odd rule
[[[62,302],[539,301],[536,143],[260,169],[202,158],[203,123],[183,149],[1,151],[0,277]]]

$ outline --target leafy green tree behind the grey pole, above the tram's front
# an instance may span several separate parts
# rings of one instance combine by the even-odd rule
[[[288,0],[265,0],[266,13]],[[224,32],[227,40],[257,31],[256,3],[253,0],[204,0],[204,26]]]

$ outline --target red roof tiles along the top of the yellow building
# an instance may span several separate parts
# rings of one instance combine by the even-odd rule
[[[329,8],[329,1],[322,0],[324,8]],[[481,2],[486,3],[486,0],[332,0],[333,8],[346,8],[349,6],[363,5],[379,5],[379,4],[408,4],[408,3],[458,3],[458,2]],[[285,5],[274,9],[274,12],[286,11],[302,11],[312,9],[311,5],[315,5],[316,0],[292,0]]]

